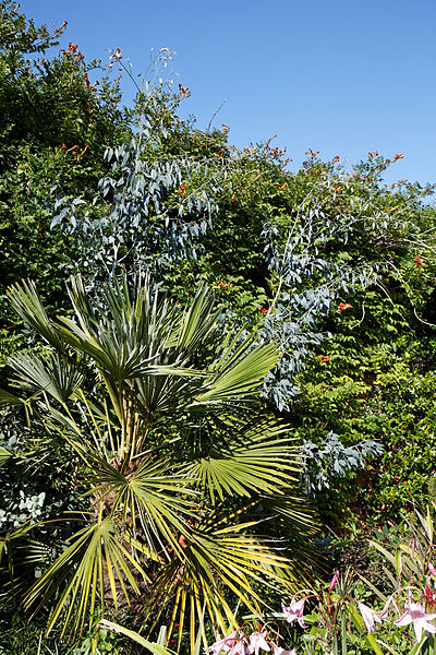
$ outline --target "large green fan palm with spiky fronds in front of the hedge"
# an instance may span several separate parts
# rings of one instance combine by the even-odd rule
[[[94,307],[80,277],[69,294],[74,318],[55,320],[31,282],[9,290],[47,348],[11,359],[15,390],[0,402],[22,404],[74,453],[89,498],[25,605],[52,604],[48,631],[81,632],[112,605],[141,606],[150,630],[165,617],[168,636],[179,626],[179,646],[204,608],[226,632],[232,604],[258,614],[263,585],[292,586],[284,536],[311,526],[292,496],[299,449],[256,402],[280,353],[220,334],[206,289],[185,308],[147,278],[133,291],[112,282]]]

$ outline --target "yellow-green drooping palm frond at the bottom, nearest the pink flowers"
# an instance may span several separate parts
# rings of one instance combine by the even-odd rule
[[[198,522],[184,545],[183,559],[165,567],[150,587],[145,620],[154,620],[153,630],[162,611],[172,608],[168,638],[177,622],[179,643],[186,628],[195,633],[203,607],[217,630],[225,631],[234,622],[229,595],[258,616],[264,599],[253,583],[257,588],[282,585],[279,571],[291,568],[287,557],[250,534],[258,522],[234,526],[226,525],[227,520],[216,523],[216,519],[209,515]]]

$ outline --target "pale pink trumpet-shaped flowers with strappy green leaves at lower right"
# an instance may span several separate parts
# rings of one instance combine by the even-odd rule
[[[433,503],[436,510],[436,503]],[[396,552],[390,552],[380,544],[371,541],[383,555],[386,563],[395,570],[395,575],[385,567],[385,580],[390,592],[377,590],[365,577],[361,581],[376,592],[378,600],[362,599],[362,590],[356,579],[347,571],[342,576],[336,572],[328,585],[315,590],[302,590],[282,605],[282,611],[275,619],[284,619],[292,628],[299,626],[305,631],[298,644],[320,645],[327,652],[348,653],[348,646],[359,643],[370,647],[377,655],[395,653],[392,646],[404,647],[416,654],[421,648],[434,653],[436,647],[436,567],[434,558],[434,522],[432,509],[426,515],[416,512],[419,523],[409,526],[408,541],[399,544]],[[365,591],[363,592],[365,594]],[[310,610],[304,615],[304,607]],[[354,631],[352,630],[354,626]],[[296,644],[294,644],[296,645]],[[298,651],[299,653],[302,651]],[[312,651],[305,650],[304,653]]]

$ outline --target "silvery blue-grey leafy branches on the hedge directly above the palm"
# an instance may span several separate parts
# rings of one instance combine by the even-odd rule
[[[152,127],[143,126],[130,143],[106,151],[110,170],[94,194],[55,203],[51,228],[69,231],[89,278],[112,277],[121,264],[160,270],[195,259],[211,227],[222,167],[191,157],[155,158],[150,134]]]

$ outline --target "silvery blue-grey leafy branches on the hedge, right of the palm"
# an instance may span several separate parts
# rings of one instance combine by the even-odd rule
[[[277,340],[283,353],[264,391],[279,410],[288,409],[289,400],[298,395],[294,376],[304,368],[311,346],[329,336],[319,326],[323,317],[339,296],[373,284],[384,267],[379,262],[355,261],[348,251],[354,233],[366,229],[372,199],[356,195],[351,213],[350,207],[328,209],[334,182],[328,175],[314,181],[281,226],[274,218],[264,223],[264,253],[275,286],[264,338]],[[340,182],[351,184],[346,177]]]

